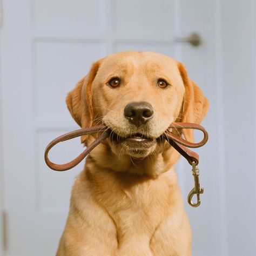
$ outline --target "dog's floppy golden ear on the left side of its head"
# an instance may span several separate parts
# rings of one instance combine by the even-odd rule
[[[73,119],[80,127],[90,127],[93,121],[91,85],[97,75],[102,59],[93,63],[89,74],[82,78],[68,93],[66,104]]]

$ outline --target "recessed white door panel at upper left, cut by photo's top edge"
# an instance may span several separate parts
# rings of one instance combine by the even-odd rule
[[[105,24],[103,0],[32,0],[32,22],[43,30],[97,30]]]

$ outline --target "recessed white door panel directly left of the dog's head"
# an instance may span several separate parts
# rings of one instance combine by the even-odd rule
[[[86,75],[91,63],[105,54],[104,45],[97,42],[33,43],[33,89],[35,116],[67,116],[65,97],[78,80]],[[64,113],[64,114],[63,114]]]

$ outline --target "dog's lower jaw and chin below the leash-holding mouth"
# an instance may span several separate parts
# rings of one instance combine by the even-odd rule
[[[156,150],[158,139],[146,137],[139,133],[127,137],[120,137],[116,133],[112,133],[110,142],[112,150],[120,156],[144,158]]]

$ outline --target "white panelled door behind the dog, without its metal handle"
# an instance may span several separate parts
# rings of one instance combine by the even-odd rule
[[[123,50],[151,50],[177,58],[187,64],[191,78],[210,99],[211,111],[204,125],[217,123],[217,95],[211,79],[215,72],[211,2],[3,0],[0,66],[8,227],[4,255],[56,252],[73,179],[83,164],[72,171],[53,172],[45,165],[43,154],[50,140],[77,128],[65,106],[65,96],[93,61]],[[192,32],[203,39],[198,48],[174,42]],[[220,255],[221,251],[218,173],[212,176],[219,159],[214,151],[218,131],[209,132],[208,145],[198,150],[205,194],[199,208],[186,206],[197,256]],[[80,151],[77,139],[53,150],[51,158],[62,163]],[[177,169],[187,205],[186,196],[193,186],[191,167],[181,160]]]

